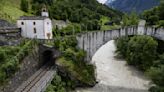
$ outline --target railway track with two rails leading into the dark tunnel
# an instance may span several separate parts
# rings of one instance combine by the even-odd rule
[[[18,88],[15,92],[33,92],[31,89],[36,86],[36,84],[46,75],[46,73],[54,69],[54,66],[46,64],[40,70],[38,70],[32,77],[30,77],[23,85]]]

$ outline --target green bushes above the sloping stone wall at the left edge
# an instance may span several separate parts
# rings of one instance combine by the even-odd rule
[[[33,41],[18,46],[0,47],[0,84],[3,85],[19,69],[21,60],[33,49]]]

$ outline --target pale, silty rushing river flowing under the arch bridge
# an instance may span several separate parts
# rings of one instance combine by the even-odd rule
[[[147,92],[150,81],[126,61],[115,58],[114,40],[102,46],[92,58],[96,65],[98,84],[77,92]]]

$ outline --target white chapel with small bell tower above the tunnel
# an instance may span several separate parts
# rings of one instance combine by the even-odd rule
[[[42,9],[41,16],[21,16],[17,20],[21,35],[25,38],[52,39],[52,22],[46,8]]]

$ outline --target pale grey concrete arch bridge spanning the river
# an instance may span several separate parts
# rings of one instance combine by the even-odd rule
[[[86,61],[90,62],[96,51],[110,40],[130,35],[150,35],[164,40],[164,29],[144,26],[125,27],[108,31],[93,31],[76,36],[78,47],[87,53]]]

